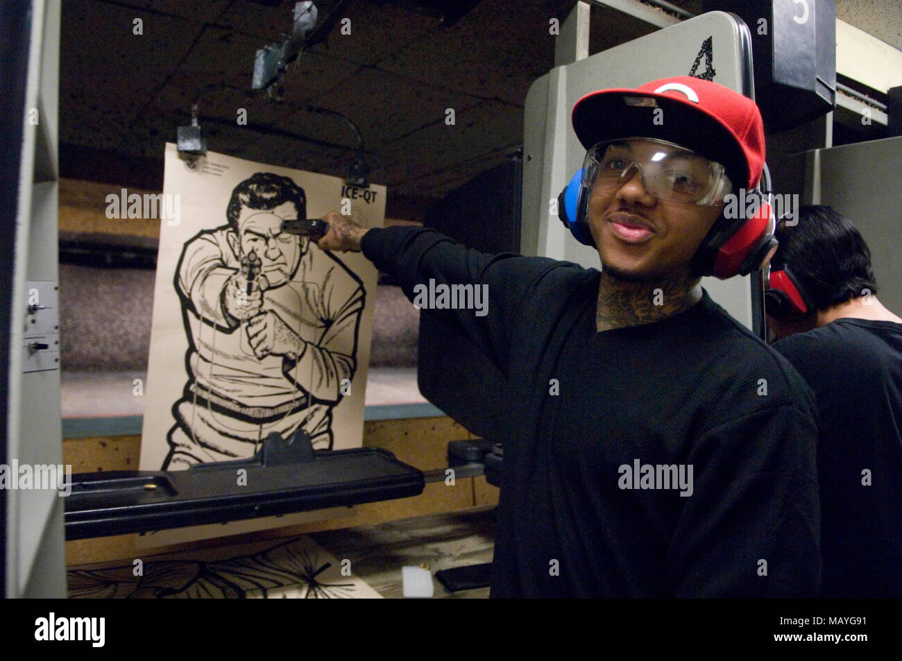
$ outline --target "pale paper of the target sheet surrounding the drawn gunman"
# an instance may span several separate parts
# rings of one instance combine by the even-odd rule
[[[272,172],[289,177],[303,188],[307,197],[308,218],[319,218],[329,210],[341,209],[342,188],[345,186],[342,179],[244,161],[213,151],[207,152],[206,161],[201,167],[190,170],[184,161],[179,160],[175,145],[166,144],[163,193],[179,195],[180,218],[179,224],[174,226],[161,218],[151,350],[144,391],[146,408],[141,445],[142,470],[160,470],[163,459],[169,452],[166,435],[175,424],[171,408],[181,398],[188,381],[185,353],[189,344],[182,321],[181,303],[173,285],[184,244],[202,230],[226,225],[226,207],[232,190],[257,172]],[[382,226],[385,187],[371,186],[370,190],[375,195],[369,204],[361,197],[352,200],[351,216],[360,225]],[[315,244],[310,243],[309,251],[318,252],[322,257],[319,261],[316,255],[313,258],[317,269],[320,265],[325,268],[335,266],[335,262],[325,257]],[[336,253],[336,257],[363,280],[366,291],[357,336],[356,370],[351,381],[351,394],[342,398],[333,408],[333,449],[342,449],[363,444],[366,374],[373,331],[377,272],[373,263],[361,253]],[[247,445],[253,449],[253,444]]]

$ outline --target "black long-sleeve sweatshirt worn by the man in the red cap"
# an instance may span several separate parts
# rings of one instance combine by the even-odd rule
[[[598,333],[595,269],[417,227],[370,230],[361,247],[411,299],[430,279],[488,285],[484,316],[423,314],[456,324],[507,378],[492,596],[816,595],[813,395],[706,293]],[[624,488],[642,485],[624,470],[637,461],[691,466],[691,495]]]

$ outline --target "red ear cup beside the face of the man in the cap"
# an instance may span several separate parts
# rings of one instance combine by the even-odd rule
[[[765,196],[755,190],[747,193],[745,201],[757,197],[754,216],[726,218],[721,216],[704,237],[693,258],[693,270],[698,275],[713,275],[726,280],[734,275],[748,275],[758,271],[777,250],[773,237],[773,211]],[[741,207],[741,213],[748,208]]]

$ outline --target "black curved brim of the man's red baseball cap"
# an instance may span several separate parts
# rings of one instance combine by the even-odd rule
[[[656,113],[658,108],[663,112]],[[691,101],[635,89],[604,89],[577,101],[572,119],[576,137],[587,150],[605,140],[658,138],[721,163],[734,187],[748,185],[749,165],[739,139]]]

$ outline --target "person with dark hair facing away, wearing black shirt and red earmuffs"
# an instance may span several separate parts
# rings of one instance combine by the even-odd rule
[[[902,318],[830,207],[780,223],[765,294],[775,348],[815,391],[824,597],[902,597]]]

